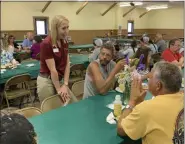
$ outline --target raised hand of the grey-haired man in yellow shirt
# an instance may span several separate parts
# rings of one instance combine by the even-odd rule
[[[133,77],[129,104],[136,106],[137,104],[143,102],[146,96],[146,92],[147,91],[143,90],[142,88],[141,79],[138,77]]]

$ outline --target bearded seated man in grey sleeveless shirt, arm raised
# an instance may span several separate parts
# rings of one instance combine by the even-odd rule
[[[124,68],[125,60],[115,64],[113,59],[114,46],[111,42],[105,43],[99,54],[99,59],[91,62],[87,68],[84,83],[84,96],[94,96],[107,93],[114,82],[115,75]]]

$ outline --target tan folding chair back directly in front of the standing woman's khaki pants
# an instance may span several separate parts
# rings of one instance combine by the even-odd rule
[[[64,104],[63,104],[63,102],[60,98],[60,95],[50,96],[50,97],[44,99],[44,101],[42,102],[41,111],[42,112],[47,112],[47,111],[50,111],[52,109],[59,108],[63,105]]]

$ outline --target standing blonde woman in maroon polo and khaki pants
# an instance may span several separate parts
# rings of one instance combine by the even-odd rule
[[[40,45],[40,74],[37,78],[37,90],[40,102],[45,98],[59,94],[63,103],[70,97],[76,101],[68,88],[70,63],[66,36],[69,32],[69,20],[57,15],[51,21],[51,34]],[[63,85],[60,81],[63,79]]]

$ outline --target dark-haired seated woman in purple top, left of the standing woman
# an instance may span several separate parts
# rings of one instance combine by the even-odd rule
[[[38,59],[36,56],[40,53],[40,44],[42,42],[41,36],[34,36],[33,45],[31,47],[32,59]]]

